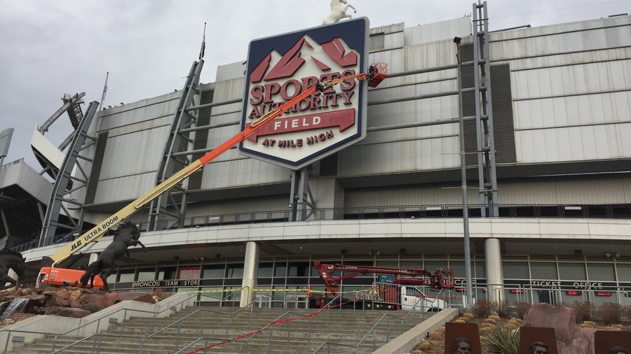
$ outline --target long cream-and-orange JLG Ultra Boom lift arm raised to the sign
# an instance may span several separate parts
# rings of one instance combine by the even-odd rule
[[[182,180],[191,176],[191,174],[201,169],[205,164],[208,164],[212,160],[215,160],[215,158],[217,158],[219,155],[222,155],[222,153],[225,153],[226,150],[229,150],[236,144],[240,143],[241,141],[244,141],[247,138],[247,136],[257,132],[259,129],[264,127],[264,125],[274,120],[274,118],[277,118],[280,115],[283,115],[285,111],[290,109],[295,104],[298,104],[302,99],[306,99],[315,91],[323,92],[328,87],[331,87],[333,85],[336,85],[346,80],[360,80],[360,81],[368,80],[368,85],[370,87],[375,87],[376,85],[379,85],[379,83],[381,83],[381,81],[384,80],[384,78],[386,78],[386,75],[387,75],[386,65],[381,64],[381,63],[376,63],[369,67],[368,73],[358,73],[352,76],[344,76],[342,78],[329,80],[329,81],[326,81],[325,83],[318,83],[316,85],[308,87],[306,90],[304,90],[304,92],[297,94],[295,97],[293,97],[289,101],[278,106],[278,108],[276,108],[275,110],[270,111],[269,113],[267,113],[266,115],[263,115],[261,118],[259,118],[255,122],[252,122],[251,125],[246,126],[245,129],[243,129],[241,132],[238,132],[238,134],[226,140],[221,145],[217,146],[217,148],[215,148],[214,150],[211,150],[209,153],[206,153],[206,155],[203,155],[198,160],[184,167],[184,169],[177,171],[173,176],[165,180],[163,183],[156,185],[156,187],[149,190],[149,192],[142,194],[135,201],[132,201],[130,204],[124,206],[121,210],[112,214],[111,216],[109,216],[109,218],[103,220],[102,222],[97,224],[95,227],[88,230],[88,232],[86,232],[85,234],[82,234],[77,239],[75,239],[71,243],[68,243],[62,249],[58,250],[57,253],[55,253],[54,255],[50,257],[53,260],[53,264],[51,267],[55,267],[55,264],[59,264],[60,262],[63,262],[74,253],[79,252],[79,250],[85,247],[88,243],[93,242],[93,241],[98,241],[107,232],[107,230],[117,225],[118,222],[121,222],[123,221],[123,219],[128,218],[130,215],[138,211],[140,208],[148,204],[150,201],[152,201],[153,199],[156,199],[158,196],[160,196],[160,194],[162,194],[163,192],[166,192],[171,187],[177,185],[177,183],[182,182]]]

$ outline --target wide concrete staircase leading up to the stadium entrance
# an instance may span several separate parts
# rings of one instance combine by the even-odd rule
[[[326,341],[354,347],[366,335],[356,351],[355,348],[332,344],[331,353],[371,353],[433,314],[417,312],[401,320],[406,315],[401,311],[326,310],[311,317],[304,316],[317,310],[255,308],[238,313],[234,311],[236,309],[193,307],[169,318],[132,318],[124,323],[112,324],[100,336],[85,339],[62,353],[175,353],[203,337],[182,352],[189,353],[259,330],[262,331],[256,335],[217,346],[208,353],[313,353]],[[386,318],[371,331],[384,314]],[[282,323],[268,326],[279,318]],[[297,319],[283,322],[289,318]],[[167,326],[170,327],[165,328]],[[81,339],[46,336],[22,348],[15,348],[11,353],[51,353]],[[326,348],[320,353],[327,353]]]

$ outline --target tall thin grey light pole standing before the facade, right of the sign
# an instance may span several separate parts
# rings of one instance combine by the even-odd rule
[[[460,174],[461,174],[461,190],[462,190],[462,228],[464,234],[464,253],[465,253],[465,276],[467,281],[466,294],[467,306],[473,306],[473,284],[471,279],[471,250],[469,245],[469,204],[467,203],[467,170],[466,170],[466,152],[464,139],[464,117],[462,111],[462,61],[460,58],[460,41],[461,38],[454,37],[456,43],[456,59],[458,60],[458,73],[456,74],[458,82],[458,101],[459,101],[459,124],[460,124]],[[477,99],[477,98],[476,98]]]

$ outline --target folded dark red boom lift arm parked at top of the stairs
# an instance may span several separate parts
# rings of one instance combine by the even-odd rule
[[[320,278],[325,282],[327,292],[330,295],[337,295],[339,283],[342,279],[355,278],[355,276],[365,274],[394,274],[395,284],[425,285],[435,289],[454,288],[453,269],[436,269],[431,272],[427,269],[416,268],[390,268],[390,267],[370,267],[352,264],[327,264],[319,260],[313,261],[313,267],[318,269]],[[344,271],[343,276],[332,276],[330,271]],[[400,276],[412,278],[400,278]],[[414,278],[414,277],[423,278]],[[426,283],[424,277],[430,278],[430,283]]]

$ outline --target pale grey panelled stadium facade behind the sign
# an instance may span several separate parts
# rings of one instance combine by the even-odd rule
[[[109,283],[170,291],[247,285],[271,295],[271,306],[304,306],[302,295],[281,290],[323,289],[312,264],[326,260],[449,267],[461,287],[468,225],[477,298],[631,304],[631,17],[477,32],[470,17],[370,29],[368,62],[387,63],[391,77],[368,90],[365,139],[299,171],[229,150],[162,206],[130,217],[148,253],[132,250]],[[475,71],[481,48],[489,65]],[[192,104],[208,108],[191,114],[207,128],[190,129],[170,158],[194,160],[241,129],[244,70],[219,66],[215,83],[196,85]],[[480,92],[484,100],[475,98]],[[181,97],[179,90],[100,112],[88,132],[95,143],[81,150],[89,182],[72,193],[81,201],[68,208],[74,218],[97,224],[156,185]],[[463,117],[477,116],[462,132],[461,101]],[[491,164],[479,161],[490,155]],[[32,199],[22,211],[37,225],[50,185],[23,162],[0,176],[4,191],[18,185]],[[63,243],[55,243],[60,232],[29,239],[18,249],[35,274]],[[73,267],[108,243],[95,243]],[[374,279],[346,279],[342,290]]]

